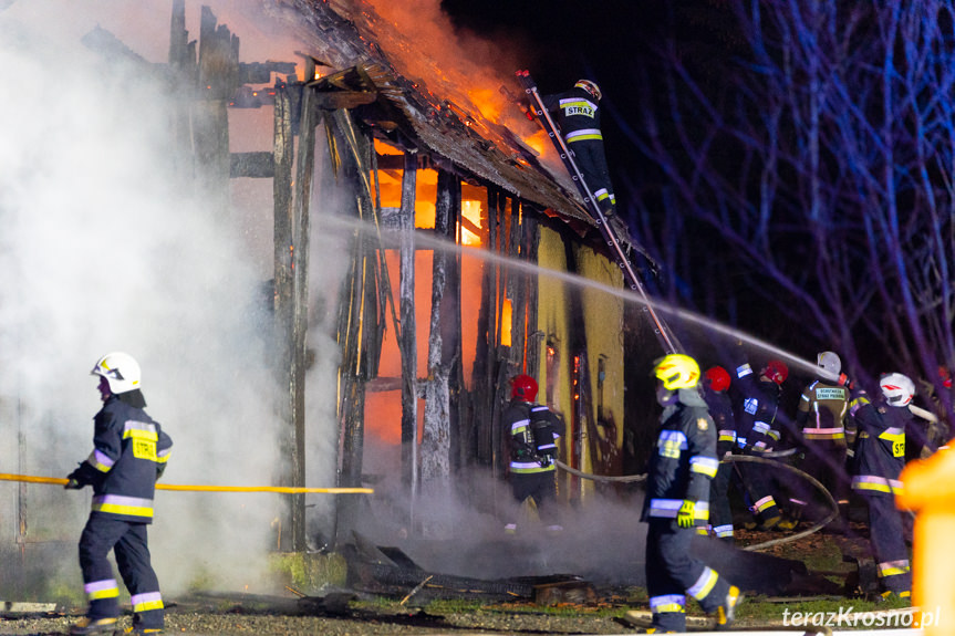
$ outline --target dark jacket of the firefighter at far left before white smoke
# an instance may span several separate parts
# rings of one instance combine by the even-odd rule
[[[166,467],[173,440],[145,410],[115,395],[93,423],[93,452],[70,478],[93,484],[93,513],[152,523],[156,479]]]

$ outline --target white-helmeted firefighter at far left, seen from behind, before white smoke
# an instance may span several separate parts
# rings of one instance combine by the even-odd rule
[[[163,596],[149,559],[146,529],[153,522],[153,494],[173,441],[143,408],[139,365],[114,352],[96,362],[103,408],[94,416],[93,452],[68,477],[66,489],[93,487],[93,507],[80,538],[80,567],[89,598],[86,616],[70,634],[116,629],[120,587],[107,560],[116,560],[133,605],[127,633],[162,632]]]

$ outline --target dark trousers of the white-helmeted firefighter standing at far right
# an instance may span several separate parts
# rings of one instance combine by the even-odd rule
[[[905,594],[912,590],[909,549],[902,532],[902,513],[892,494],[866,494],[869,541],[875,556],[879,578],[887,592]]]

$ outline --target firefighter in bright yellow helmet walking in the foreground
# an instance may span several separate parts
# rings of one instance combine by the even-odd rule
[[[686,630],[686,594],[728,626],[743,595],[723,576],[691,556],[694,526],[708,518],[709,481],[716,476],[716,426],[698,393],[699,366],[692,357],[660,358],[653,375],[663,407],[647,467],[641,520],[647,522],[646,587],[650,633]]]

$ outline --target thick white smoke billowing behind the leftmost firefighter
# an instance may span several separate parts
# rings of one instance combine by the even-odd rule
[[[242,20],[235,11],[249,4],[204,3],[220,23]],[[172,177],[166,88],[81,44],[98,24],[163,63],[170,8],[30,0],[0,10],[0,472],[64,477],[89,455],[101,405],[87,374],[120,350],[138,359],[147,411],[173,437],[164,481],[277,482],[280,392],[262,293],[272,277],[270,197],[258,209],[233,201],[228,222],[212,218]],[[195,39],[199,4],[188,10]],[[281,59],[274,40],[267,46],[242,61]],[[328,258],[328,244],[315,248]],[[326,342],[315,345],[320,367],[333,371]],[[334,395],[333,382],[315,382]],[[333,418],[324,428],[334,430]],[[310,453],[331,451],[316,431]],[[311,459],[321,467],[314,479],[325,481],[309,486],[333,486],[334,462]],[[29,520],[27,541],[61,543],[64,573],[79,585],[73,555],[89,499],[89,489],[52,486],[30,486],[21,498],[0,482],[0,531],[9,541]],[[198,582],[255,590],[282,511],[278,496],[158,492],[150,536],[164,591]],[[31,550],[50,548],[42,545]]]

